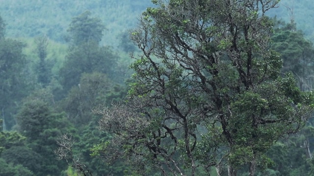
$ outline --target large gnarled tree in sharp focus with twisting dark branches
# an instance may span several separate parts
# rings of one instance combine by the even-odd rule
[[[236,176],[271,166],[266,151],[298,132],[314,108],[269,49],[277,0],[153,0],[131,39],[130,97],[95,110],[112,140],[95,149],[140,175]]]

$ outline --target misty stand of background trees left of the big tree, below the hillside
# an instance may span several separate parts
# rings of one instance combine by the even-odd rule
[[[121,100],[128,88],[124,79],[130,77],[123,62],[126,54],[120,57],[111,47],[99,44],[103,29],[98,18],[84,12],[73,18],[68,44],[58,44],[45,35],[19,39],[23,42],[0,39],[4,119],[0,162],[6,163],[0,175],[76,175],[76,170],[69,170],[53,153],[56,140],[64,133],[75,134],[72,156],[93,169],[94,175],[123,175],[127,167],[122,162],[107,166],[101,158],[90,156],[93,144],[111,138],[96,128],[99,117],[91,110]],[[86,30],[89,32],[81,32]]]

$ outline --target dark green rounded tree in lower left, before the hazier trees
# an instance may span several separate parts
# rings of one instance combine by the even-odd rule
[[[59,176],[66,165],[55,160],[52,152],[57,147],[55,140],[64,132],[75,132],[66,114],[57,113],[48,103],[29,96],[24,100],[16,120],[18,131],[26,136],[26,146],[36,153],[33,155],[39,160],[39,169],[33,171],[34,174]]]

